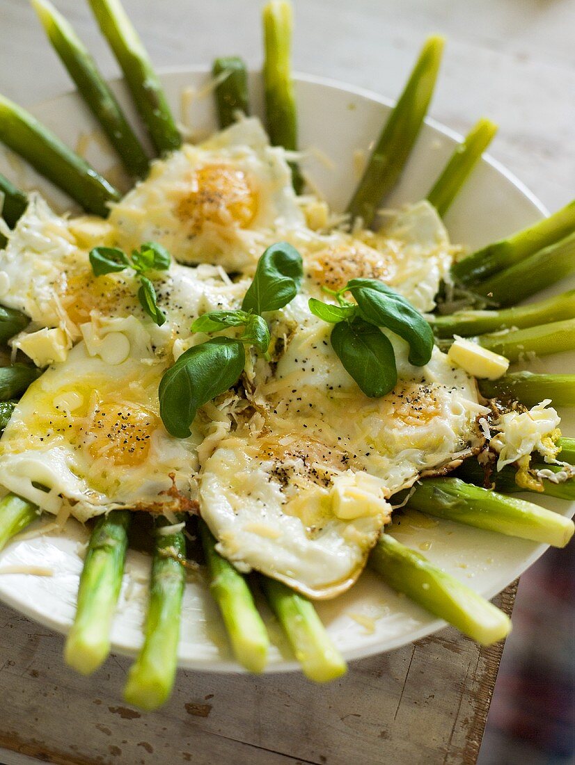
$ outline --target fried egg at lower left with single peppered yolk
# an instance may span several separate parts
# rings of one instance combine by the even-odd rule
[[[185,508],[201,432],[172,438],[162,425],[158,383],[171,360],[136,317],[83,333],[18,402],[0,441],[3,485],[49,513],[67,503],[80,520]]]

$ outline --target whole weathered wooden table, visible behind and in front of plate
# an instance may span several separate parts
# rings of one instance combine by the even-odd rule
[[[106,73],[116,73],[84,4],[57,0]],[[260,0],[126,0],[158,67],[239,51],[260,63]],[[492,155],[550,209],[573,195],[571,0],[296,0],[296,69],[386,95],[400,90],[426,34],[450,42],[431,115],[466,132],[482,114]],[[27,3],[0,0],[0,92],[28,105],[70,84]],[[498,603],[511,611],[515,588]],[[371,659],[318,687],[299,675],[181,672],[162,711],[140,716],[121,689],[128,662],[93,678],[64,667],[63,641],[0,606],[0,762],[475,763],[501,645],[455,630]]]

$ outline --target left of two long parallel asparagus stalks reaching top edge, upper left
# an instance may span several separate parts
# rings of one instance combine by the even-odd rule
[[[80,96],[102,125],[126,170],[143,177],[148,171],[148,158],[86,46],[49,0],[32,0],[32,5]]]

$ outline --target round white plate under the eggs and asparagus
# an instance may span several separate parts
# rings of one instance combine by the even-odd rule
[[[198,70],[170,72],[163,80],[176,115],[191,129],[191,134],[201,137],[212,132],[216,122],[211,93],[191,99],[181,97],[185,91],[188,94],[192,90],[201,92],[209,80],[207,74]],[[122,83],[114,83],[114,87],[126,109],[133,114]],[[253,112],[261,113],[259,75],[251,76],[251,92]],[[389,102],[373,93],[308,76],[297,78],[297,98],[300,145],[310,149],[306,171],[329,203],[341,210],[357,180],[354,154],[358,149],[367,151],[377,137],[389,111]],[[117,160],[98,138],[90,114],[76,95],[60,96],[33,111],[69,145],[83,144],[87,158],[117,182],[114,167]],[[459,136],[449,129],[428,120],[403,180],[389,200],[390,206],[424,197],[457,139]],[[0,171],[23,187],[39,186],[61,209],[70,207],[64,197],[55,194],[54,189],[29,168],[15,163],[14,158],[0,156]],[[446,224],[452,241],[476,247],[531,223],[542,213],[545,210],[541,203],[524,186],[501,165],[486,158],[449,211]],[[565,364],[564,357],[560,362],[550,360],[548,368],[565,369]],[[567,424],[565,432],[573,433],[575,429]],[[545,505],[566,515],[569,513],[567,503],[559,500],[546,500]],[[425,549],[425,555],[433,563],[487,597],[505,588],[546,549],[545,545],[443,521],[428,528],[410,529],[398,539],[414,549]],[[0,554],[0,572],[8,565],[30,564],[51,568],[54,575],[0,573],[0,598],[29,617],[65,633],[74,617],[82,567],[80,553],[86,541],[85,530],[73,521],[65,535],[46,534],[12,542]],[[130,551],[112,630],[113,648],[118,653],[133,654],[141,643],[148,574],[149,558]],[[394,594],[369,571],[347,594],[319,603],[317,607],[347,659],[397,648],[444,626],[406,597]],[[265,607],[263,611],[270,620]],[[268,669],[297,669],[273,620],[270,632],[274,646]],[[186,586],[179,662],[181,666],[195,669],[240,670],[230,656],[217,608],[205,582],[199,578]]]

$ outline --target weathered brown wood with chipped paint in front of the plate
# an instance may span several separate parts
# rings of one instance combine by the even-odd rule
[[[498,597],[508,613],[511,586]],[[60,765],[472,765],[502,645],[448,629],[353,662],[318,686],[298,674],[180,672],[172,701],[141,715],[121,699],[129,661],[83,678],[63,640],[0,607],[0,762]]]

